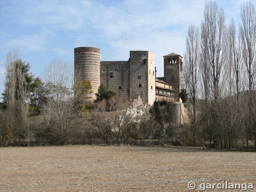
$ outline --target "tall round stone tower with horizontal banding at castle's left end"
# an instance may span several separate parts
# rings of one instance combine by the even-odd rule
[[[96,47],[77,47],[75,54],[75,72],[80,80],[88,80],[92,85],[92,99],[100,86],[100,49]]]

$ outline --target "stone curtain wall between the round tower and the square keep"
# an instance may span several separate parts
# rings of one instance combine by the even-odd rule
[[[120,97],[129,97],[129,69],[128,61],[100,61],[100,83]]]

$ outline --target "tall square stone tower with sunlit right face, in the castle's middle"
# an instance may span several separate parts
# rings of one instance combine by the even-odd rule
[[[155,53],[130,51],[130,100],[138,99],[152,105],[156,99]]]

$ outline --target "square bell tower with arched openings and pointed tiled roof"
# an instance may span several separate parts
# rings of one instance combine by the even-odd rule
[[[164,81],[171,84],[176,91],[175,102],[182,102],[179,93],[182,88],[182,57],[176,53],[164,55]]]

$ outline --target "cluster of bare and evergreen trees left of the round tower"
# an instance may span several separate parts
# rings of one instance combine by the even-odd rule
[[[7,54],[5,68],[1,147],[78,143],[82,113],[92,108],[87,102],[91,84],[75,80],[73,66],[58,59],[44,70],[42,79],[35,78],[17,50]]]

